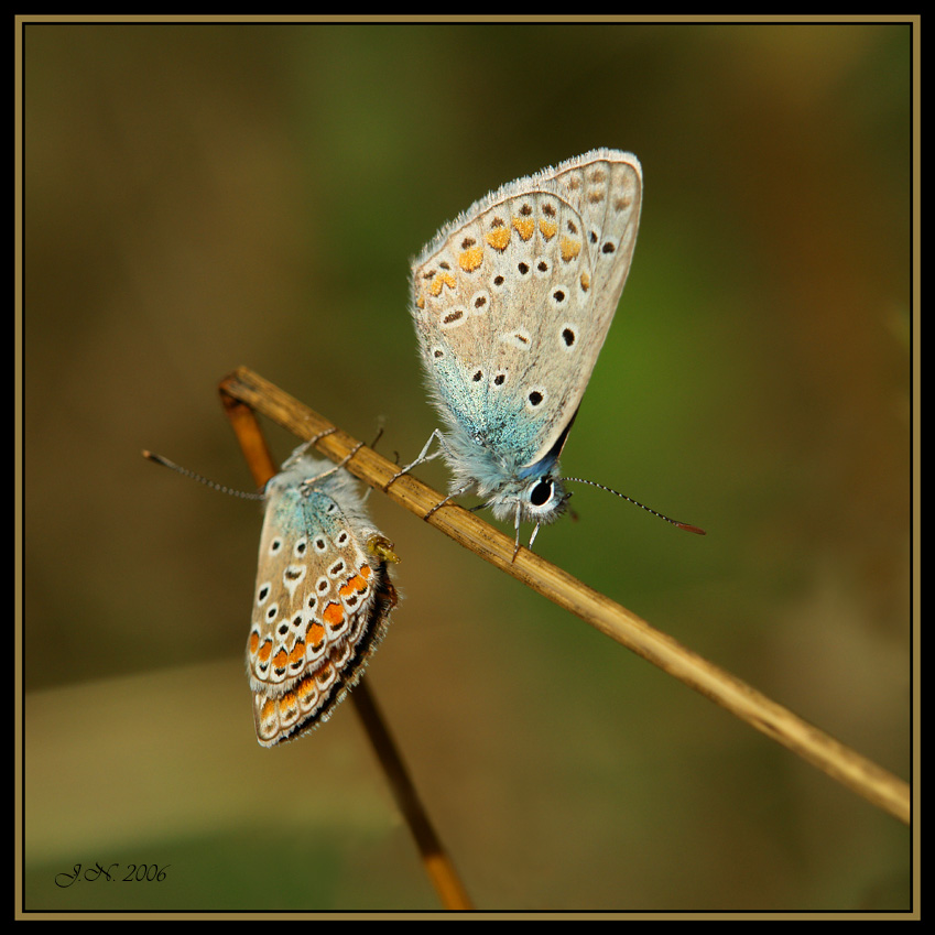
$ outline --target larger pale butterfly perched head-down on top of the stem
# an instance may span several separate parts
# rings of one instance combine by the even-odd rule
[[[598,149],[502,186],[413,264],[412,316],[454,474],[498,519],[556,519],[558,457],[607,337],[637,242],[643,176]],[[401,471],[401,474],[404,471]]]

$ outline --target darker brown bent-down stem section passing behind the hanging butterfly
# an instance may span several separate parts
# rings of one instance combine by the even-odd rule
[[[244,371],[249,372],[249,371]],[[275,463],[270,455],[267,441],[254,415],[254,406],[232,394],[228,387],[228,380],[220,384],[221,402],[227,413],[237,441],[253,475],[258,487],[263,487],[267,481],[278,472]],[[258,412],[262,411],[257,409]],[[410,830],[415,838],[416,847],[422,856],[425,872],[428,874],[435,891],[442,900],[442,905],[448,910],[472,909],[470,898],[465,890],[457,871],[442,846],[428,814],[418,797],[418,792],[409,775],[399,749],[387,728],[380,709],[377,706],[367,678],[358,682],[350,693],[350,699],[357,709],[367,736],[380,767],[383,770],[396,805],[409,824]]]

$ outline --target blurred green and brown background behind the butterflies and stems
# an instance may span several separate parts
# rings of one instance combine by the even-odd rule
[[[26,909],[438,906],[351,705],[256,742],[260,509],[140,449],[250,489],[248,365],[413,457],[410,258],[598,145],[642,225],[563,467],[708,535],[583,488],[536,551],[910,778],[909,26],[24,36]],[[370,502],[404,600],[368,678],[478,907],[909,906],[895,819]],[[54,884],[95,861],[171,867]]]

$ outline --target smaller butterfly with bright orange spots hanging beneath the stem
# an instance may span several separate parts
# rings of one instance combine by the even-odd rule
[[[247,667],[257,739],[290,740],[330,717],[388,626],[395,592],[369,555],[352,481],[314,481],[303,458],[270,483]]]

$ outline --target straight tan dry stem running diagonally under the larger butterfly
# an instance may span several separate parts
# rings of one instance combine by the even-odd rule
[[[221,391],[263,413],[300,438],[307,439],[335,427],[247,368],[240,368],[227,377],[221,383]],[[333,460],[340,461],[357,445],[357,439],[337,430],[323,437],[316,447]],[[361,447],[346,467],[378,490],[382,490],[398,470],[396,465],[367,447]],[[443,499],[443,494],[411,475],[392,483],[387,496],[423,518]],[[447,503],[432,513],[426,522],[705,695],[868,802],[909,824],[910,786],[898,776],[528,548],[520,548],[513,561],[513,540],[464,508]]]

